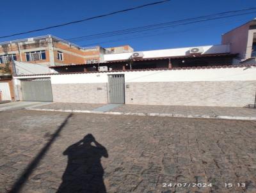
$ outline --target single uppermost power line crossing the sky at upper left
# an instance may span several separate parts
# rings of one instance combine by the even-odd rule
[[[106,14],[103,14],[103,15],[97,15],[97,16],[94,16],[94,17],[86,18],[86,19],[76,20],[76,21],[73,21],[73,22],[67,22],[67,23],[64,23],[64,24],[58,24],[56,26],[49,26],[49,27],[44,27],[44,28],[40,28],[40,29],[34,29],[34,30],[31,30],[31,31],[15,33],[15,34],[12,34],[12,35],[0,36],[0,38],[8,38],[8,37],[17,36],[17,35],[24,35],[24,34],[27,34],[27,33],[33,33],[33,32],[36,32],[36,31],[44,31],[46,29],[52,29],[52,28],[56,28],[56,27],[67,26],[67,25],[70,25],[70,24],[76,24],[76,23],[79,23],[79,22],[87,21],[87,20],[98,19],[98,18],[101,18],[101,17],[107,17],[109,15],[115,15],[117,13],[123,13],[123,12],[129,12],[131,10],[137,10],[137,9],[144,8],[144,7],[147,7],[147,6],[152,6],[152,5],[156,5],[156,4],[160,4],[160,3],[166,3],[168,1],[171,1],[171,0],[164,0],[164,1],[157,1],[155,3],[143,4],[143,5],[140,5],[140,6],[127,8],[125,10],[119,10],[119,11],[116,11],[116,12],[106,13]]]

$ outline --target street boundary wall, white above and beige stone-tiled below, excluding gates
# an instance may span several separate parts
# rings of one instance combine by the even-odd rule
[[[241,107],[254,102],[255,66],[33,75],[51,77],[55,102],[108,103],[108,75],[125,75],[125,103]],[[129,86],[128,86],[129,85]]]

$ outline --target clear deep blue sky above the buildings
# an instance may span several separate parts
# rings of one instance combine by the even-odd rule
[[[86,17],[114,12],[155,1],[159,0],[3,1],[1,2],[0,12],[0,36],[80,20]],[[218,12],[240,10],[254,6],[256,6],[255,0],[173,0],[168,3],[157,4],[156,6],[150,6],[140,10],[133,10],[131,12],[120,13],[56,29],[13,36],[11,38],[2,38],[0,42],[48,34],[63,39],[74,38],[77,36],[116,31],[130,27],[147,26],[150,24],[170,22]],[[101,45],[102,47],[129,44],[134,50],[220,44],[221,34],[255,17],[256,13],[175,28],[145,31],[132,35],[83,40],[75,43],[81,46]]]

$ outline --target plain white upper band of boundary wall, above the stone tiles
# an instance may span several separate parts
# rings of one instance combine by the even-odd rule
[[[40,75],[14,77],[19,79],[51,77],[52,84],[102,83],[108,82],[109,74],[125,74],[125,82],[193,82],[193,81],[256,81],[256,68],[209,68],[193,70],[154,70],[134,72],[75,73],[64,75]]]

